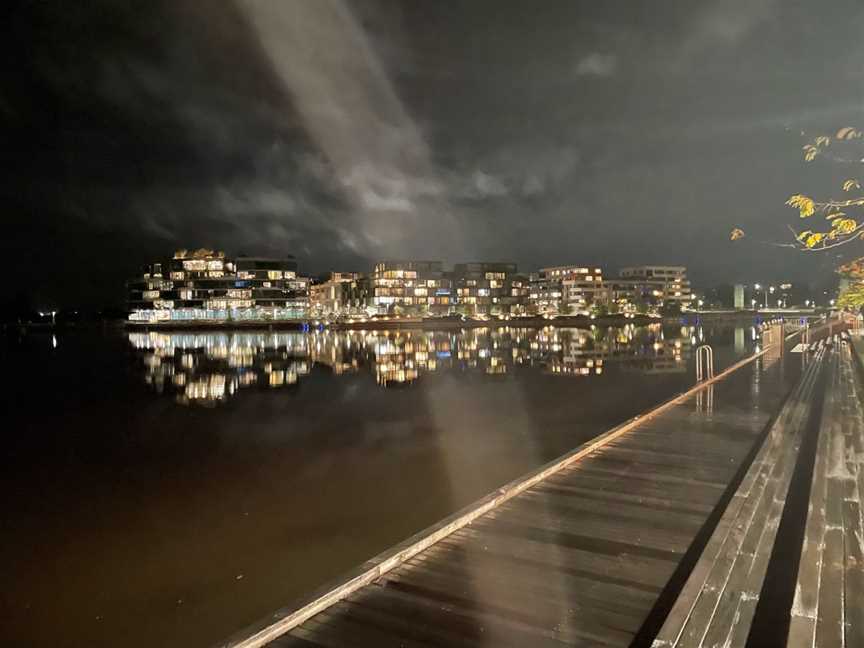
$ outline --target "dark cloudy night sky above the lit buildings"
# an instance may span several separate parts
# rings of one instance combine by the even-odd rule
[[[760,241],[846,177],[805,165],[801,131],[864,126],[860,0],[4,13],[0,253],[37,305],[120,303],[142,263],[201,246],[309,274],[680,263],[703,285],[836,262]]]

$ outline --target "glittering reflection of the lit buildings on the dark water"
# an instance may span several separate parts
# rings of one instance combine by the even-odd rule
[[[478,328],[459,331],[129,333],[144,380],[182,404],[216,404],[244,389],[285,389],[314,365],[370,372],[385,387],[437,371],[504,375],[522,367],[553,376],[626,371],[681,373],[703,332],[694,327]],[[737,341],[737,338],[736,338]]]

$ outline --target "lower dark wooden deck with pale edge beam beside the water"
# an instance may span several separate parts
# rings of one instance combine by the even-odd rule
[[[290,614],[277,613],[288,632],[271,646],[630,645],[685,554],[707,540],[789,393],[796,376],[776,359],[436,535],[300,625],[285,627]]]

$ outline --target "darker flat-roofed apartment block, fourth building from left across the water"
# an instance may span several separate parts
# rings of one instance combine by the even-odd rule
[[[509,314],[523,298],[522,283],[515,263],[457,263],[453,266],[457,308],[469,314]]]

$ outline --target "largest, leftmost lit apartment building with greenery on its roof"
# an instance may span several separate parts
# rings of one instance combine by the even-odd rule
[[[293,258],[237,257],[200,249],[145,266],[128,283],[138,322],[296,319],[309,310],[309,279]]]

